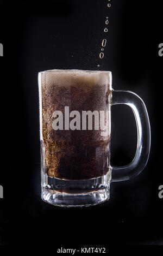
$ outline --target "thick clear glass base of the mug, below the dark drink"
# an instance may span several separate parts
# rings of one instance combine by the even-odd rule
[[[111,169],[89,180],[62,180],[42,172],[41,198],[48,204],[62,207],[83,207],[102,204],[110,197]]]

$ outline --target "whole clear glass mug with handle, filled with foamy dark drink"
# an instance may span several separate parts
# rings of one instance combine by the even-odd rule
[[[110,183],[145,168],[151,145],[146,106],[130,91],[112,90],[111,72],[39,73],[41,198],[58,206],[90,206],[110,198]],[[111,105],[127,104],[137,125],[133,161],[110,166]]]

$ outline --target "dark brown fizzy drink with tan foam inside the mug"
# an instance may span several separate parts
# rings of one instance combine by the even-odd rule
[[[110,132],[82,130],[82,111],[108,111],[110,104],[109,76],[106,72],[52,70],[42,73],[42,144],[48,176],[66,180],[84,180],[102,176],[109,170]],[[68,129],[65,106],[80,113],[80,130]],[[63,129],[54,130],[54,111],[63,115]],[[73,120],[69,118],[69,122]],[[87,120],[88,121],[88,120]],[[106,123],[109,130],[109,122]],[[66,127],[66,129],[65,129]]]

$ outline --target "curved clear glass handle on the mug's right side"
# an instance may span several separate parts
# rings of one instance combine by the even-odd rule
[[[133,161],[125,166],[111,166],[111,181],[125,181],[140,174],[145,168],[151,147],[151,128],[143,100],[134,92],[112,90],[111,105],[125,104],[134,112],[137,127],[137,147]]]

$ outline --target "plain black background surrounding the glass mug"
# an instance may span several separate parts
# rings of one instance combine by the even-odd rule
[[[1,245],[163,245],[161,1],[0,1]],[[109,32],[103,32],[105,17]],[[104,58],[101,41],[107,38]],[[108,203],[63,209],[40,199],[39,96],[37,72],[47,69],[110,70],[113,88],[144,100],[152,146],[145,170],[111,183]],[[111,164],[129,163],[136,125],[127,106],[112,107]]]

